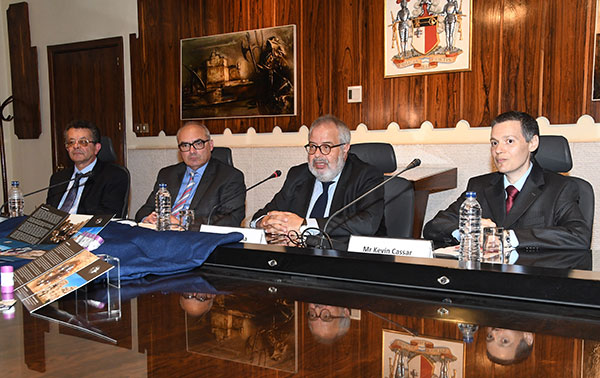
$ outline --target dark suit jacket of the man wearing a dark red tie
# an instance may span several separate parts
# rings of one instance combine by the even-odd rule
[[[470,179],[467,191],[477,192],[483,218],[515,232],[519,247],[590,248],[592,226],[585,223],[577,203],[578,186],[568,177],[546,171],[534,163],[508,215],[501,173]],[[444,244],[458,242],[452,232],[458,229],[458,213],[465,193],[425,225],[425,239]]]

